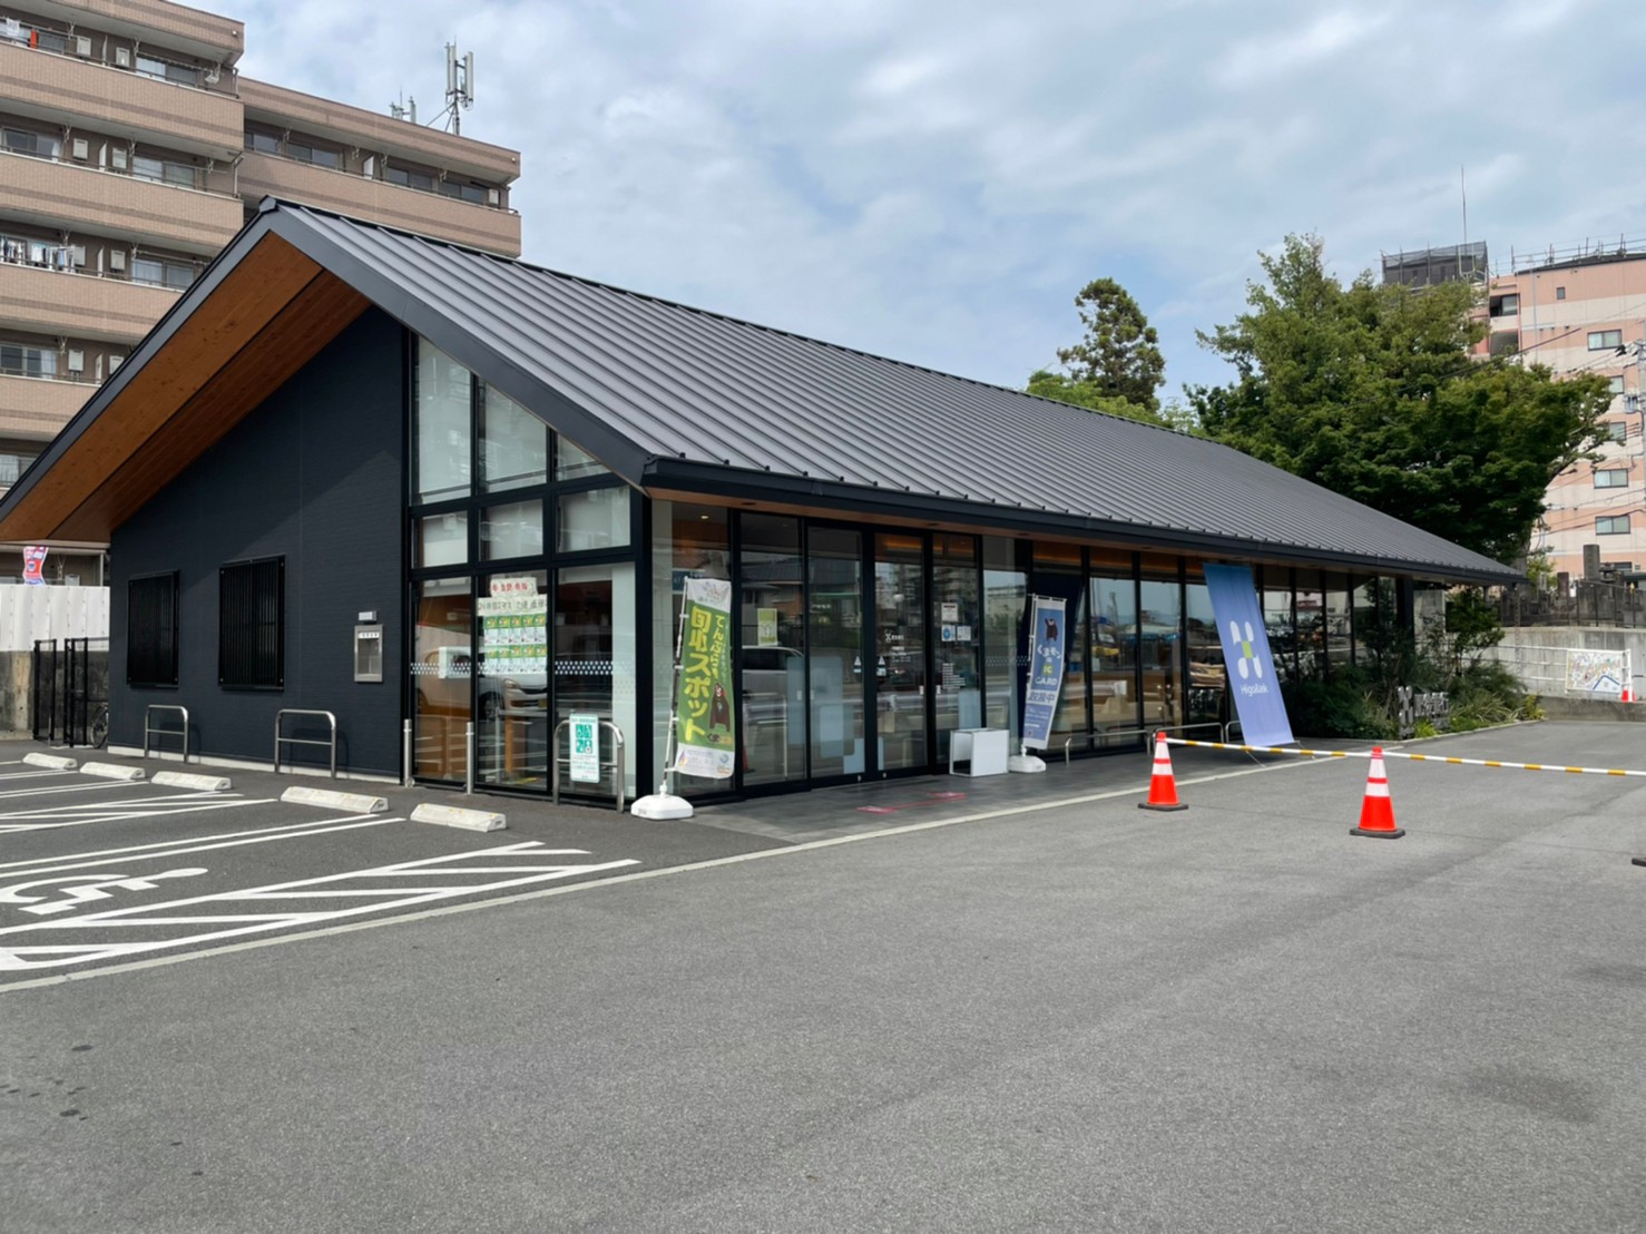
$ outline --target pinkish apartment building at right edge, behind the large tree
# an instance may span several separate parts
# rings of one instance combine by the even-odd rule
[[[1611,387],[1600,457],[1549,485],[1532,548],[1574,579],[1585,574],[1585,546],[1598,550],[1602,568],[1646,569],[1646,242],[1554,248],[1511,268],[1488,285],[1491,354],[1513,352],[1557,375],[1595,373]]]

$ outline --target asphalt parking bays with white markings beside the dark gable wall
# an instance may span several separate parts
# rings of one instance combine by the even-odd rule
[[[117,782],[21,762],[38,749],[0,744],[0,987],[774,844],[588,806],[58,752],[145,777],[224,775],[230,788]],[[293,785],[380,796],[388,810],[281,801]],[[423,801],[499,810],[509,828],[477,834],[408,821]]]

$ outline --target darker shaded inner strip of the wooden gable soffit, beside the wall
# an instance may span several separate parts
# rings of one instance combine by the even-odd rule
[[[365,296],[332,275],[313,280],[171,416],[163,433],[145,441],[99,485],[53,538],[107,541],[115,527],[245,420],[369,306]]]

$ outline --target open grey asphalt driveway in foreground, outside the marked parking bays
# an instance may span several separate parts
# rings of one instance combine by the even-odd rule
[[[1136,755],[673,865],[545,821],[649,877],[0,989],[8,1227],[1641,1229],[1646,778],[1391,760],[1376,841],[1365,762],[1174,763],[1183,813]]]

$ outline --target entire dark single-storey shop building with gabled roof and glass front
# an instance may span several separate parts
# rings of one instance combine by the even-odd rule
[[[525,793],[574,712],[658,783],[693,576],[731,584],[737,749],[688,796],[1016,740],[1035,594],[1052,750],[1088,754],[1230,719],[1207,563],[1253,566],[1294,676],[1516,578],[1211,443],[278,202],[0,538],[110,541],[112,744],[186,706],[194,754],[267,763],[277,712],[329,711],[349,773]]]

